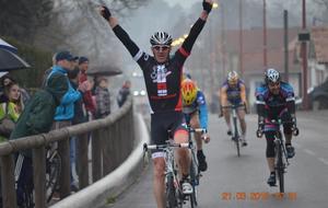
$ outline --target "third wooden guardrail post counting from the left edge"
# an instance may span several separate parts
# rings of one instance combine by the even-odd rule
[[[59,193],[60,193],[60,198],[62,199],[71,194],[70,140],[67,138],[61,141],[58,141],[58,150],[61,155]]]

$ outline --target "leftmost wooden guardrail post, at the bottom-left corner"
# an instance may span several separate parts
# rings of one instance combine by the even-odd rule
[[[13,157],[1,157],[2,206],[16,208],[16,192]]]

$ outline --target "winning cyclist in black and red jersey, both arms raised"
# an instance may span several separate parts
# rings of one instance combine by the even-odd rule
[[[187,129],[181,125],[184,123],[180,94],[183,66],[206,24],[212,4],[212,0],[203,0],[203,11],[200,18],[192,25],[188,37],[174,56],[169,56],[172,37],[167,33],[157,32],[151,36],[150,43],[153,53],[153,56],[151,56],[137,46],[106,7],[101,8],[103,18],[109,23],[115,35],[126,46],[143,71],[151,106],[151,140],[155,145],[165,143],[165,140],[169,137],[168,134],[172,134],[175,142],[188,141]],[[168,130],[171,131],[168,132]],[[162,152],[153,152],[152,158],[154,161],[154,195],[157,207],[164,208],[165,161]],[[177,161],[183,176],[183,190],[190,193],[190,190],[192,192],[192,187],[188,183],[190,158],[187,149],[180,148],[177,150]]]

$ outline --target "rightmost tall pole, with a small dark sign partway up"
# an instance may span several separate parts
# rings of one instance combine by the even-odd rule
[[[306,1],[302,0],[302,28],[306,30]],[[308,109],[307,97],[307,51],[306,42],[302,42],[302,63],[303,63],[303,108]]]

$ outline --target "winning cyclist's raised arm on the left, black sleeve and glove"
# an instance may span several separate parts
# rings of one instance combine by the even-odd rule
[[[117,19],[112,15],[108,8],[101,7],[99,12],[102,16],[108,22],[115,35],[129,50],[131,56],[134,57],[139,51],[139,47],[137,46],[137,44],[130,38],[128,33],[118,24]]]

